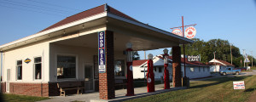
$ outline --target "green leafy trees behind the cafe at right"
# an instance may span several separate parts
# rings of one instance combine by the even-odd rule
[[[201,55],[201,62],[206,63],[210,60],[214,59],[222,59],[229,63],[231,63],[231,53],[232,52],[232,64],[236,65],[236,67],[243,66],[243,55],[240,53],[240,49],[234,45],[230,46],[230,42],[228,40],[222,39],[212,39],[208,42],[201,40],[199,38],[192,39],[195,42],[185,44],[185,54],[186,55]],[[181,47],[181,53],[183,54],[183,45]],[[172,53],[171,53],[172,54]],[[252,56],[248,55],[250,61],[252,61]],[[241,63],[242,62],[242,63]],[[253,58],[253,65],[256,64],[256,60]],[[248,65],[252,65],[252,62],[248,63]]]

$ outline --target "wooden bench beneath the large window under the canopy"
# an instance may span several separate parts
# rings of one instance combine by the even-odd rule
[[[81,82],[59,82],[57,86],[60,88],[61,96],[66,96],[67,90],[77,90],[78,94],[79,91],[82,94],[84,89]]]

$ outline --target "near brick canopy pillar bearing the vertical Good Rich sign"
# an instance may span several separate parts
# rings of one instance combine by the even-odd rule
[[[106,73],[99,74],[100,99],[114,99],[113,31],[106,31]]]

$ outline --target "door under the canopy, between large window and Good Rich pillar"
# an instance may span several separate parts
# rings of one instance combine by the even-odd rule
[[[85,92],[93,92],[93,69],[92,65],[84,66],[84,90]]]

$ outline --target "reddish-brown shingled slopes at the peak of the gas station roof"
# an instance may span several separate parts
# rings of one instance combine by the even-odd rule
[[[66,19],[64,20],[61,20],[57,23],[55,23],[54,25],[52,26],[49,26],[47,28],[45,28],[43,31],[47,31],[49,29],[53,29],[57,26],[63,26],[65,24],[68,24],[68,23],[71,23],[73,21],[76,21],[76,20],[81,20],[81,19],[84,19],[84,18],[87,18],[87,17],[90,17],[90,16],[93,16],[95,14],[101,14],[103,12],[107,11],[108,13],[111,13],[111,14],[115,14],[115,15],[118,15],[120,17],[124,17],[126,19],[129,19],[129,20],[134,20],[134,21],[137,21],[133,18],[131,18],[130,16],[126,15],[126,14],[123,14],[121,12],[119,12],[117,9],[115,8],[112,8],[110,6],[108,6],[107,4],[103,4],[101,6],[98,6],[96,8],[90,8],[88,10],[85,10],[84,12],[81,12],[79,14],[74,14],[72,16],[69,16],[67,17]],[[138,22],[138,21],[137,21]],[[40,31],[41,32],[41,31]]]

